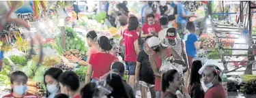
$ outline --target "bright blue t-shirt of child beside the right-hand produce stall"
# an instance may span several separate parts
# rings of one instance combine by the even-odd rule
[[[184,37],[182,38],[184,39]],[[197,54],[197,50],[195,48],[195,42],[197,42],[198,39],[197,39],[197,35],[195,35],[195,33],[190,33],[188,35],[188,39],[186,40],[186,54],[188,56],[192,56],[193,58],[197,57],[196,54]]]

